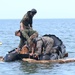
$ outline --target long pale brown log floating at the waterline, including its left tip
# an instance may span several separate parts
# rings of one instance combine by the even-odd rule
[[[28,62],[28,63],[40,63],[40,64],[71,63],[71,62],[75,62],[75,58],[64,58],[64,59],[57,59],[57,60],[34,60],[30,58],[23,58],[22,61]],[[0,57],[0,62],[5,62],[3,57]]]

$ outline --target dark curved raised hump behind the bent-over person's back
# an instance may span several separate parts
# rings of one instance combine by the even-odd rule
[[[56,53],[58,55],[60,55],[60,52],[61,52],[63,54],[63,56],[64,56],[64,54],[65,54],[65,45],[63,44],[61,39],[59,39],[56,35],[51,35],[51,34],[45,34],[43,36],[53,38],[53,40],[54,40],[53,48],[56,49],[56,51],[57,51]]]

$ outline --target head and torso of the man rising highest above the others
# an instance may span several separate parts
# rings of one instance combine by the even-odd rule
[[[20,30],[30,29],[33,27],[32,19],[36,13],[36,9],[32,9],[23,16],[22,20],[20,21]]]

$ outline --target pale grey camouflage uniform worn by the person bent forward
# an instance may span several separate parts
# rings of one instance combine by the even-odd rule
[[[46,55],[50,55],[50,53],[52,52],[51,49],[54,45],[54,40],[50,37],[41,37],[36,39],[37,44],[36,44],[36,51],[35,53],[38,56],[41,56],[43,54],[44,58],[42,59],[47,59]],[[50,56],[49,56],[50,58]]]

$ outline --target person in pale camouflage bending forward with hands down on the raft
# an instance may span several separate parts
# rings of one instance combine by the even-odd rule
[[[33,56],[34,59],[50,60],[53,45],[54,40],[47,36],[33,39],[31,43],[32,53],[30,53],[30,56]],[[56,57],[53,59],[56,59]]]

